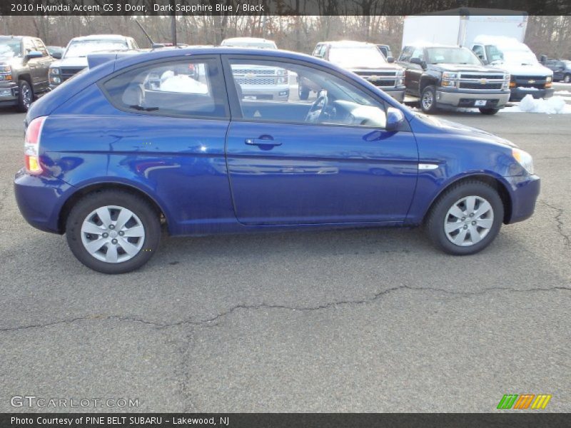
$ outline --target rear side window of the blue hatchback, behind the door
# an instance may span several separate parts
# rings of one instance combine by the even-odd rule
[[[161,116],[226,118],[226,92],[214,59],[152,63],[113,76],[102,86],[121,110]]]

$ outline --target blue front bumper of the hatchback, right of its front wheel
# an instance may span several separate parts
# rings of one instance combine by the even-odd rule
[[[507,218],[507,224],[530,218],[535,210],[535,202],[540,194],[541,180],[537,175],[505,177],[510,185],[512,200],[511,213]]]

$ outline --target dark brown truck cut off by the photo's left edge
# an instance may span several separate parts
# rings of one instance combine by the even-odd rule
[[[49,89],[52,61],[37,37],[0,36],[0,106],[28,111],[34,96]]]

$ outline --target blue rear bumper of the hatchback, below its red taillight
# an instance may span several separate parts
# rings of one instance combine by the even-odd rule
[[[59,213],[73,187],[57,178],[29,175],[19,170],[14,177],[14,195],[21,215],[34,228],[61,233]]]

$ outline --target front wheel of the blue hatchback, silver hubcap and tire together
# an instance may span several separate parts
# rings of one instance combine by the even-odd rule
[[[504,207],[490,185],[466,181],[438,198],[428,214],[430,240],[445,253],[468,255],[492,243],[500,232]]]

